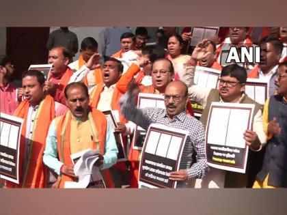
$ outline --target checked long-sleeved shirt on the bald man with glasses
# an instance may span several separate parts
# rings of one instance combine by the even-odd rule
[[[133,121],[146,130],[150,124],[162,124],[171,128],[187,130],[189,135],[182,152],[180,169],[187,169],[188,179],[202,178],[205,175],[208,170],[204,150],[205,132],[200,121],[184,112],[169,120],[165,109],[137,109],[135,98],[129,94],[125,94],[120,98],[120,109],[126,119]],[[194,153],[196,153],[196,162],[193,162]]]

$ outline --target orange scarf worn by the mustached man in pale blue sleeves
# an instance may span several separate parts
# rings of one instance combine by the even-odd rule
[[[89,121],[92,123],[93,141],[91,142],[91,149],[99,149],[100,154],[105,153],[105,139],[107,132],[107,119],[103,113],[96,109],[92,109],[92,119],[89,117]],[[65,115],[57,118],[56,130],[57,130],[57,147],[59,160],[66,165],[71,165],[72,160],[70,158],[70,124],[72,120],[72,113],[68,111]],[[107,187],[114,187],[113,180],[108,169],[102,171],[103,177]],[[72,177],[67,175],[61,175],[59,188],[64,188],[65,182],[72,182]]]

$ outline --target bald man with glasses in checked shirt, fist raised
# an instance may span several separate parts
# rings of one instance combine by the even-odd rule
[[[131,84],[128,92],[120,99],[121,111],[126,119],[146,130],[150,124],[154,123],[189,132],[180,160],[180,170],[171,172],[169,180],[178,182],[178,187],[186,187],[187,182],[192,178],[202,178],[207,171],[204,154],[204,128],[197,119],[185,113],[187,87],[184,83],[172,81],[167,85],[164,94],[166,109],[135,108],[137,92],[137,85]],[[193,163],[194,153],[197,153],[197,160]]]

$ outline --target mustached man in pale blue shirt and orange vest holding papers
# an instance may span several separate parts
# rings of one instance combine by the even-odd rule
[[[88,148],[100,151],[100,159],[94,165],[103,170],[106,186],[114,187],[108,168],[117,162],[118,148],[111,124],[103,113],[89,105],[87,86],[83,83],[68,84],[64,94],[70,111],[52,121],[43,156],[44,164],[59,175],[53,187],[64,188],[65,182],[77,181],[70,155]],[[87,185],[102,187],[101,181],[92,178]]]

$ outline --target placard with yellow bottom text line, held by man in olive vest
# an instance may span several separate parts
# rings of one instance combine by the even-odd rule
[[[206,124],[206,159],[210,167],[245,173],[254,104],[212,102]]]

